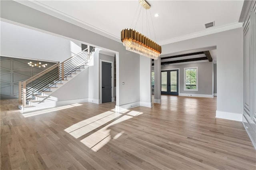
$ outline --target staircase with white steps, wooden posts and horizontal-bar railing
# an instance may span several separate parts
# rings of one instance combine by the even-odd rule
[[[82,50],[62,63],[37,75],[19,82],[19,108],[22,112],[46,109],[57,106],[58,99],[51,94],[63,87],[79,73],[86,70],[94,47]]]

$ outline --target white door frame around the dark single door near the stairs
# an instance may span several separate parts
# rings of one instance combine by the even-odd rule
[[[102,62],[106,62],[106,63],[111,63],[111,101],[115,101],[115,98],[114,98],[114,63],[113,61],[107,61],[107,60],[104,60],[104,59],[100,59],[100,100],[99,100],[99,103],[102,103]]]

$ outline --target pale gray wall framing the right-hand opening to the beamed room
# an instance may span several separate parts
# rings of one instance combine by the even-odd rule
[[[163,55],[203,47],[217,47],[217,117],[229,119],[242,115],[243,36],[242,28],[228,30],[176,43],[162,45]]]

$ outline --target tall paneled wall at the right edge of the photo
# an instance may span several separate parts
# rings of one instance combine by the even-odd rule
[[[244,20],[243,124],[256,148],[256,1],[248,5]]]

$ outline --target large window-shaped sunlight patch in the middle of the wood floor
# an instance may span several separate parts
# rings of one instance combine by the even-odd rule
[[[101,113],[99,115],[86,119],[84,121],[80,121],[66,128],[65,131],[68,132],[70,135],[72,135],[74,138],[79,138],[83,135],[88,134],[92,130],[109,123],[106,126],[102,127],[100,130],[97,130],[96,132],[90,134],[86,138],[80,140],[80,142],[82,142],[88,148],[92,149],[94,152],[97,152],[110,140],[116,140],[120,136],[122,136],[122,134],[124,134],[124,131],[121,131],[115,135],[114,134],[111,135],[111,129],[110,129],[111,126],[143,114],[142,112],[130,111],[127,109],[125,111],[122,111],[122,113],[117,113],[114,111],[115,109],[112,109],[110,111],[106,111],[104,113]],[[111,121],[113,122],[110,123]]]

